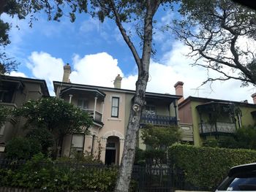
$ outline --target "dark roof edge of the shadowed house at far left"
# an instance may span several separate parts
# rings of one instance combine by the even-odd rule
[[[7,80],[7,81],[34,82],[34,83],[41,84],[43,94],[45,96],[50,96],[45,80],[32,79],[27,77],[14,77],[14,76],[3,75],[3,74],[0,75],[0,78],[1,80]]]

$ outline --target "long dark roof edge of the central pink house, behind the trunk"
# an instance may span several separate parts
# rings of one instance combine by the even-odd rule
[[[101,86],[95,86],[95,85],[83,85],[83,84],[75,84],[70,82],[59,82],[59,81],[53,81],[54,90],[56,91],[56,85],[61,85],[64,87],[75,87],[75,88],[94,88],[99,89],[99,91],[115,91],[119,93],[131,93],[135,94],[135,91],[129,90],[129,89],[121,89],[121,88],[108,88],[108,87],[101,87]],[[177,95],[171,95],[171,94],[164,94],[164,93],[152,93],[152,92],[146,92],[146,96],[150,96],[151,98],[165,98],[165,99],[180,99],[182,96]]]

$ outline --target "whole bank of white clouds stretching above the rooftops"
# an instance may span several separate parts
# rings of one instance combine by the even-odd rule
[[[236,80],[214,82],[211,86],[209,84],[203,85],[197,91],[201,83],[206,80],[206,71],[199,67],[190,66],[192,60],[184,56],[186,51],[188,51],[187,47],[176,42],[173,49],[165,54],[162,62],[151,61],[147,91],[175,94],[173,85],[177,81],[183,81],[185,98],[200,96],[230,101],[247,99],[252,103],[250,96],[255,92],[255,88],[252,86],[240,88],[241,82]],[[52,94],[52,81],[62,80],[63,65],[64,62],[60,58],[54,58],[50,54],[42,52],[31,53],[27,64],[34,77],[45,79],[48,82]],[[121,88],[135,90],[138,74],[124,75],[118,66],[117,59],[108,53],[84,55],[83,58],[75,55],[70,80],[73,83],[113,88],[113,80],[117,74],[123,77]]]

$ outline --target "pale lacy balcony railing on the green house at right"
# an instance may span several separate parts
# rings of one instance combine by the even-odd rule
[[[200,134],[215,134],[215,133],[224,133],[224,134],[233,134],[236,131],[235,123],[227,122],[217,122],[214,125],[210,123],[199,123],[199,132]]]

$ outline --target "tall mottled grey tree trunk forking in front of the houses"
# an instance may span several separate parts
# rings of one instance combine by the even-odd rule
[[[140,128],[140,115],[145,104],[146,86],[148,83],[148,69],[152,50],[152,31],[153,31],[153,17],[157,8],[159,7],[159,1],[152,0],[147,1],[146,15],[144,20],[144,35],[143,35],[143,55],[141,59],[138,59],[137,52],[134,50],[132,43],[126,36],[125,31],[122,31],[121,23],[116,21],[124,40],[127,42],[130,50],[132,51],[135,61],[138,65],[138,80],[136,82],[136,93],[132,109],[130,110],[129,123],[127,126],[127,132],[124,141],[124,151],[121,159],[121,166],[118,172],[118,179],[116,181],[116,192],[128,192],[129,183],[132,176],[132,166],[135,160],[135,147],[137,141],[138,130]]]

